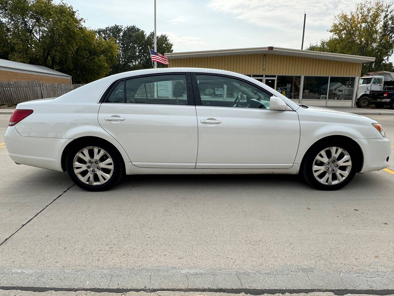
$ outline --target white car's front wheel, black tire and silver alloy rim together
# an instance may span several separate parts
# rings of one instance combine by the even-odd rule
[[[353,179],[357,163],[357,154],[346,141],[324,141],[314,145],[306,155],[303,176],[317,189],[336,190]]]

